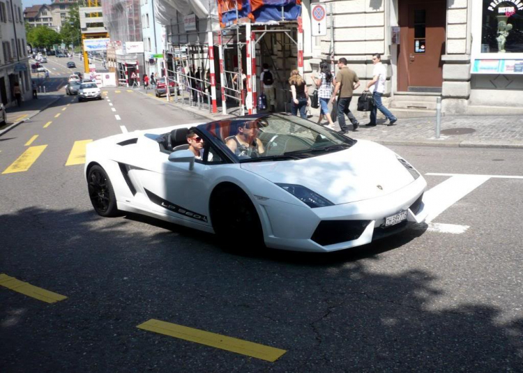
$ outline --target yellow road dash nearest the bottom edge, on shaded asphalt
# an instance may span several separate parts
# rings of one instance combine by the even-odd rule
[[[205,344],[206,346],[216,347],[217,349],[241,353],[242,355],[252,356],[261,360],[274,362],[287,351],[275,349],[274,347],[264,346],[225,335],[206,332],[204,330],[188,328],[187,326],[167,323],[156,319],[146,321],[139,326],[139,329],[169,335],[170,337],[180,338],[190,342]]]

